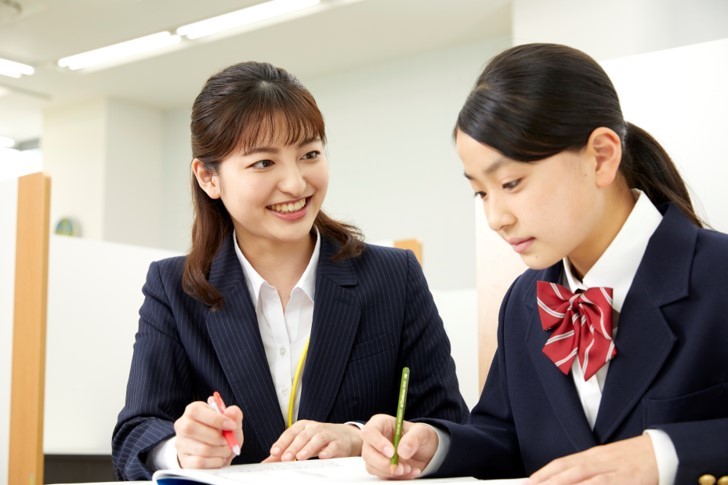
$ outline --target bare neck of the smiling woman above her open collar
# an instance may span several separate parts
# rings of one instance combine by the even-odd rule
[[[284,310],[294,285],[311,261],[314,247],[315,236],[292,243],[240,245],[255,271],[276,288]]]

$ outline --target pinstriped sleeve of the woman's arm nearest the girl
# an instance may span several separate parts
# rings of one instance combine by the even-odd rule
[[[413,376],[408,390],[407,416],[466,422],[468,408],[460,394],[450,340],[422,267],[411,251],[406,254],[408,277],[400,368],[409,366]]]

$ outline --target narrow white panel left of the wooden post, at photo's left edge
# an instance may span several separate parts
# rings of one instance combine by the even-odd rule
[[[0,484],[8,480],[18,181],[0,181]]]

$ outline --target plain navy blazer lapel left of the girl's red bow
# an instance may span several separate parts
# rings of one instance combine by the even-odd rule
[[[562,263],[558,263],[542,273],[542,280],[560,283],[562,270]],[[526,335],[528,353],[541,379],[554,415],[575,449],[591,448],[597,442],[584,415],[573,377],[571,374],[564,375],[543,353],[543,346],[546,344],[549,334],[543,330],[538,316],[535,281],[532,289],[525,295],[523,305],[524,308],[532,308],[532,311],[528,312],[531,315],[529,331]]]

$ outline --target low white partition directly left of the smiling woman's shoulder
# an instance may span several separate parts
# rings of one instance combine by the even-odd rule
[[[149,263],[147,247],[51,236],[46,330],[46,453],[110,454],[124,405]]]

